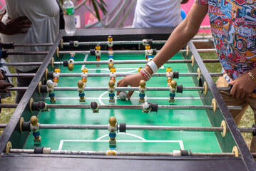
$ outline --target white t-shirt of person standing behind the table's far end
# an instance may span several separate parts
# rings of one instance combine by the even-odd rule
[[[182,0],[137,0],[134,28],[170,27],[181,23]]]

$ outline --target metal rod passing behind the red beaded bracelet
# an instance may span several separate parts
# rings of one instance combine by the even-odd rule
[[[125,77],[133,75],[134,73],[118,73],[116,77]],[[7,73],[7,77],[34,77],[36,73]],[[166,73],[154,73],[153,76],[166,76]],[[179,76],[198,76],[198,73],[179,73]],[[210,76],[223,76],[223,73],[210,73]],[[60,73],[60,77],[81,77],[81,73]],[[88,77],[109,77],[109,73],[88,73]]]

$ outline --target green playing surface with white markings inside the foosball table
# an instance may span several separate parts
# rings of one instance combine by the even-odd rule
[[[64,56],[63,60],[68,60]],[[114,54],[114,60],[137,60],[145,59],[145,56],[138,54]],[[183,59],[176,55],[172,59]],[[101,60],[108,60],[107,55],[102,55]],[[95,61],[95,56],[77,54],[75,61]],[[145,64],[115,64],[117,73],[137,73],[140,66]],[[188,73],[185,63],[165,64],[158,73],[165,73],[167,67],[180,73]],[[73,71],[61,67],[61,73],[81,73],[85,66],[74,66]],[[109,73],[108,65],[88,65],[88,73]],[[59,78],[58,87],[76,87],[81,77]],[[88,77],[87,87],[108,87],[109,77]],[[121,80],[116,78],[116,83]],[[191,77],[180,76],[175,79],[178,85],[183,87],[195,86]],[[146,83],[148,87],[166,87],[166,77],[153,77]],[[108,102],[108,92],[85,91],[86,102],[80,103],[77,91],[56,91],[56,104],[91,104],[96,101],[99,105],[138,105],[138,92],[133,93],[130,100],[120,100],[116,96],[115,103]],[[158,105],[202,105],[197,91],[185,90],[183,93],[176,93],[175,103],[168,102],[168,91],[148,91],[145,99],[149,103]],[[48,95],[46,103],[50,103]],[[77,124],[77,125],[108,125],[108,119],[115,116],[118,123],[126,125],[163,125],[163,126],[199,126],[210,127],[210,121],[205,110],[158,110],[158,113],[143,113],[142,110],[106,110],[93,113],[86,109],[51,109],[39,113],[41,124]],[[108,130],[40,130],[41,144],[37,146],[51,147],[53,150],[93,150],[106,151],[109,148]],[[33,149],[33,135],[30,134],[24,148]],[[128,152],[172,152],[183,148],[191,149],[192,152],[221,152],[215,133],[199,131],[166,131],[166,130],[127,130],[126,134],[118,133],[116,136],[116,149]]]

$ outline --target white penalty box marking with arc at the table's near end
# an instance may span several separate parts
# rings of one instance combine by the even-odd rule
[[[148,143],[152,143],[152,142],[170,142],[170,143],[179,143],[180,145],[180,149],[184,150],[184,144],[182,140],[145,140],[145,138],[142,138],[138,135],[134,135],[134,134],[130,134],[130,133],[118,133],[117,135],[130,135],[133,136],[135,138],[138,138],[140,140],[116,140],[116,142],[148,142]],[[64,142],[109,142],[109,140],[101,140],[102,138],[108,137],[109,135],[103,135],[100,138],[96,139],[96,140],[60,140],[60,143],[58,145],[58,150],[62,150],[63,147],[63,143]]]

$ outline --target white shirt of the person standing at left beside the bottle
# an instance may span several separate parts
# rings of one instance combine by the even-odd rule
[[[9,18],[27,16],[32,22],[28,33],[18,33],[12,36],[0,34],[2,42],[14,43],[53,43],[58,35],[59,7],[56,0],[11,0],[6,1],[6,15],[2,22],[5,24]],[[50,47],[15,47],[9,51],[49,51]],[[13,63],[41,62],[46,55],[15,55],[9,56]],[[31,71],[39,66],[17,66],[23,72]]]

